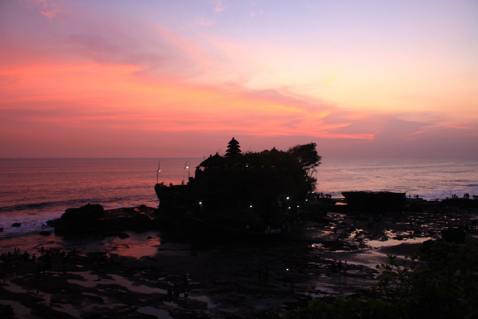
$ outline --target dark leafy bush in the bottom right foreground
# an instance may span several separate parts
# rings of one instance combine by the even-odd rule
[[[360,299],[314,298],[309,307],[284,313],[291,319],[478,318],[478,249],[437,240],[426,253],[389,256],[380,281]]]

